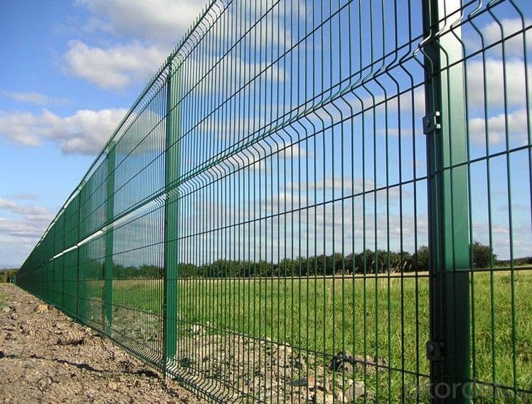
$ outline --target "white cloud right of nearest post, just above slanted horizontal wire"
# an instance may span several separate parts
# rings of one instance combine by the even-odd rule
[[[506,140],[506,127],[511,144],[523,145],[528,142],[526,110],[518,110],[509,115],[496,115],[488,119],[489,144],[501,144]],[[484,118],[469,119],[469,135],[478,145],[486,144],[486,120]]]

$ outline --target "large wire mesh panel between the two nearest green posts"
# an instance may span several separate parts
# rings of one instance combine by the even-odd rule
[[[420,13],[216,3],[178,54],[183,381],[298,403],[428,385]]]

